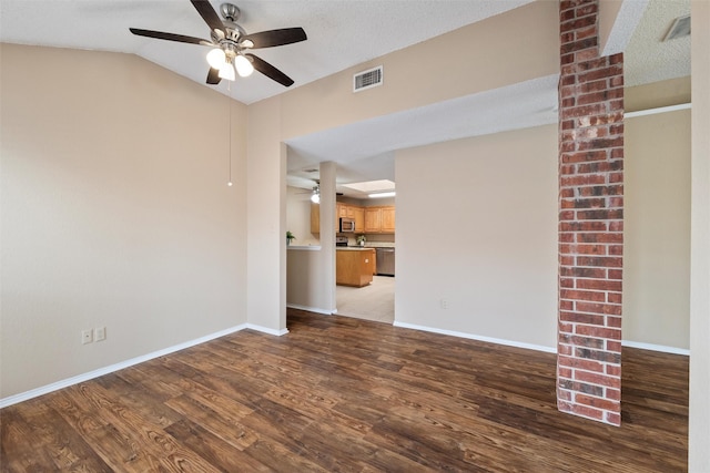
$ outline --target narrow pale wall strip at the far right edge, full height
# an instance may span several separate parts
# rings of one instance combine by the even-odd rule
[[[692,0],[689,471],[710,471],[710,2]]]

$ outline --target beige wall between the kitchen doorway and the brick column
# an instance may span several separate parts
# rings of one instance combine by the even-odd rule
[[[396,322],[554,349],[557,127],[400,151],[395,163]]]

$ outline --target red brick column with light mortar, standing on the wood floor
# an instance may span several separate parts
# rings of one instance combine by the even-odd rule
[[[599,56],[599,0],[560,1],[557,405],[621,423],[623,55]]]

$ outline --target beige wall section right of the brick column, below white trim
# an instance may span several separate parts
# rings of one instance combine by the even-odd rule
[[[689,348],[690,111],[625,127],[623,339]]]

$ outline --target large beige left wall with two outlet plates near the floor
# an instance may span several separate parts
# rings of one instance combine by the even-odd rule
[[[227,187],[225,96],[133,55],[1,56],[0,397],[244,323],[245,106]]]

